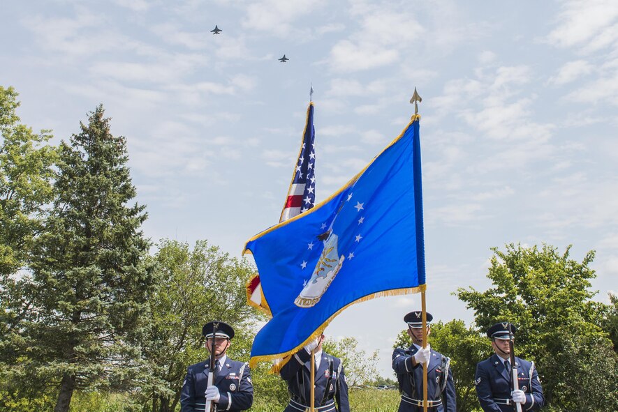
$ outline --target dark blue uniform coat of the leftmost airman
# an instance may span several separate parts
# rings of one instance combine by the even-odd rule
[[[196,363],[187,369],[182,392],[180,411],[204,411],[209,362]],[[245,411],[253,403],[253,384],[247,363],[226,358],[221,370],[215,374],[214,386],[219,388],[217,411]]]

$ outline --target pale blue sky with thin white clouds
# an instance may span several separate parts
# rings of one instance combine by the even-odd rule
[[[618,289],[616,1],[4,0],[0,12],[0,84],[20,93],[22,123],[68,140],[103,104],[154,243],[207,239],[240,257],[279,220],[311,85],[317,201],[399,135],[416,87],[434,319],[473,321],[453,292],[490,287],[490,248],[507,243],[573,245],[578,261],[596,250],[596,299]],[[360,303],[326,334],[378,350],[392,376],[418,308],[419,295]]]

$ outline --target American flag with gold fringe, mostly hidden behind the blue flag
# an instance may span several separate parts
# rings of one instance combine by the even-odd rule
[[[313,91],[313,87],[311,88]],[[307,122],[304,125],[302,144],[294,167],[292,183],[288,190],[288,197],[284,209],[281,211],[279,222],[284,222],[304,211],[308,211],[316,204],[316,151],[314,149],[314,104],[307,107]],[[260,275],[256,274],[247,282],[247,303],[270,315],[270,308],[264,298]]]

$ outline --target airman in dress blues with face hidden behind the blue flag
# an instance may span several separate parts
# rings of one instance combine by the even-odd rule
[[[290,402],[284,412],[309,411],[311,403],[311,351],[316,350],[314,409],[316,412],[350,412],[348,384],[341,359],[322,351],[324,335],[304,346],[281,368],[288,382]],[[335,406],[337,401],[337,406]]]

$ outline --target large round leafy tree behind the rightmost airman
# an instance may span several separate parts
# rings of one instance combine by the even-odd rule
[[[518,327],[515,353],[536,363],[550,410],[618,410],[617,357],[599,326],[606,310],[591,300],[594,252],[578,262],[570,247],[562,254],[548,245],[492,250],[492,288],[457,291],[480,331],[505,320]]]

